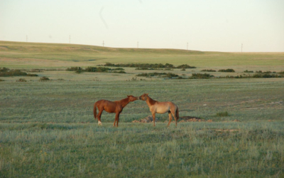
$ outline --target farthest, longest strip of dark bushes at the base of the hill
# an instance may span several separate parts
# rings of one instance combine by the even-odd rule
[[[107,67],[128,67],[128,68],[196,68],[195,66],[189,66],[187,64],[182,64],[180,66],[173,66],[173,64],[166,63],[105,63],[102,66]]]

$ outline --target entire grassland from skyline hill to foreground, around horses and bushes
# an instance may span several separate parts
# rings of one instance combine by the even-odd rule
[[[106,62],[187,63],[197,68],[169,72],[234,68],[234,74],[212,74],[239,75],[280,72],[283,56],[0,41],[1,68],[60,69],[0,78],[0,177],[284,177],[283,78],[164,80],[136,78],[153,70],[134,68],[124,68],[126,74],[65,71]],[[42,76],[50,80],[40,82]],[[119,127],[106,112],[97,125],[95,101],[143,93],[173,101],[180,116],[212,122],[167,128],[168,114],[157,114],[156,127],[132,123],[151,115],[136,100],[124,108]]]

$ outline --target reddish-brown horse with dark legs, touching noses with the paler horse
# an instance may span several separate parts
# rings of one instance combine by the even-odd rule
[[[124,107],[132,101],[138,100],[138,97],[135,97],[133,95],[127,95],[127,98],[124,98],[123,100],[117,100],[117,101],[109,101],[109,100],[99,100],[96,103],[94,103],[94,119],[98,119],[98,124],[102,125],[101,122],[101,115],[102,112],[105,110],[107,112],[115,112],[116,117],[114,120],[114,127],[119,126],[119,114],[122,112]],[[97,108],[99,110],[99,113],[97,115]]]

